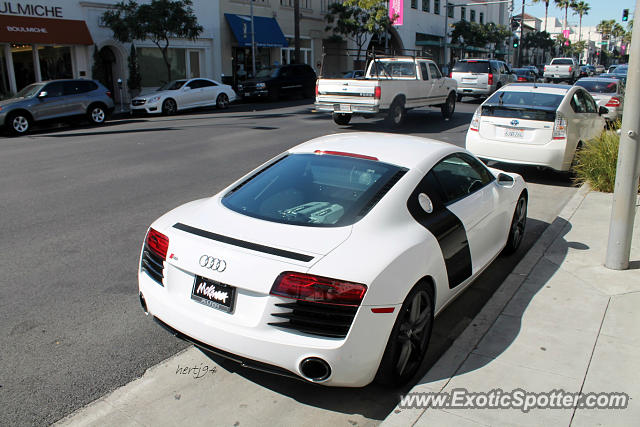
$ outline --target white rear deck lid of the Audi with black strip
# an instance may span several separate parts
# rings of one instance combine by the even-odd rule
[[[180,240],[196,238],[209,245],[308,267],[347,240],[352,229],[265,221],[226,208],[218,196],[183,205],[159,222],[170,242],[172,235]]]

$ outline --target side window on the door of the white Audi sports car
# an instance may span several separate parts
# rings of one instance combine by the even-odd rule
[[[452,203],[475,193],[494,179],[487,168],[464,153],[445,157],[431,171],[440,184],[445,203]]]

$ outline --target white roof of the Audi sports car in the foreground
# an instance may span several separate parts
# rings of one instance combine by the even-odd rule
[[[427,171],[441,158],[466,152],[455,145],[410,135],[382,132],[350,132],[321,136],[289,150],[290,153],[335,151],[375,157],[381,162]]]

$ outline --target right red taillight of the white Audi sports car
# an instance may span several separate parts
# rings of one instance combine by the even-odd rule
[[[281,273],[271,287],[271,295],[296,300],[359,306],[367,287],[304,273]]]

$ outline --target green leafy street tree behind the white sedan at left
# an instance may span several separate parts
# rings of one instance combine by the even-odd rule
[[[172,37],[196,40],[203,28],[193,13],[191,0],[151,0],[139,5],[135,0],[121,1],[102,15],[105,26],[122,43],[151,40],[162,53],[171,81],[169,40]]]

